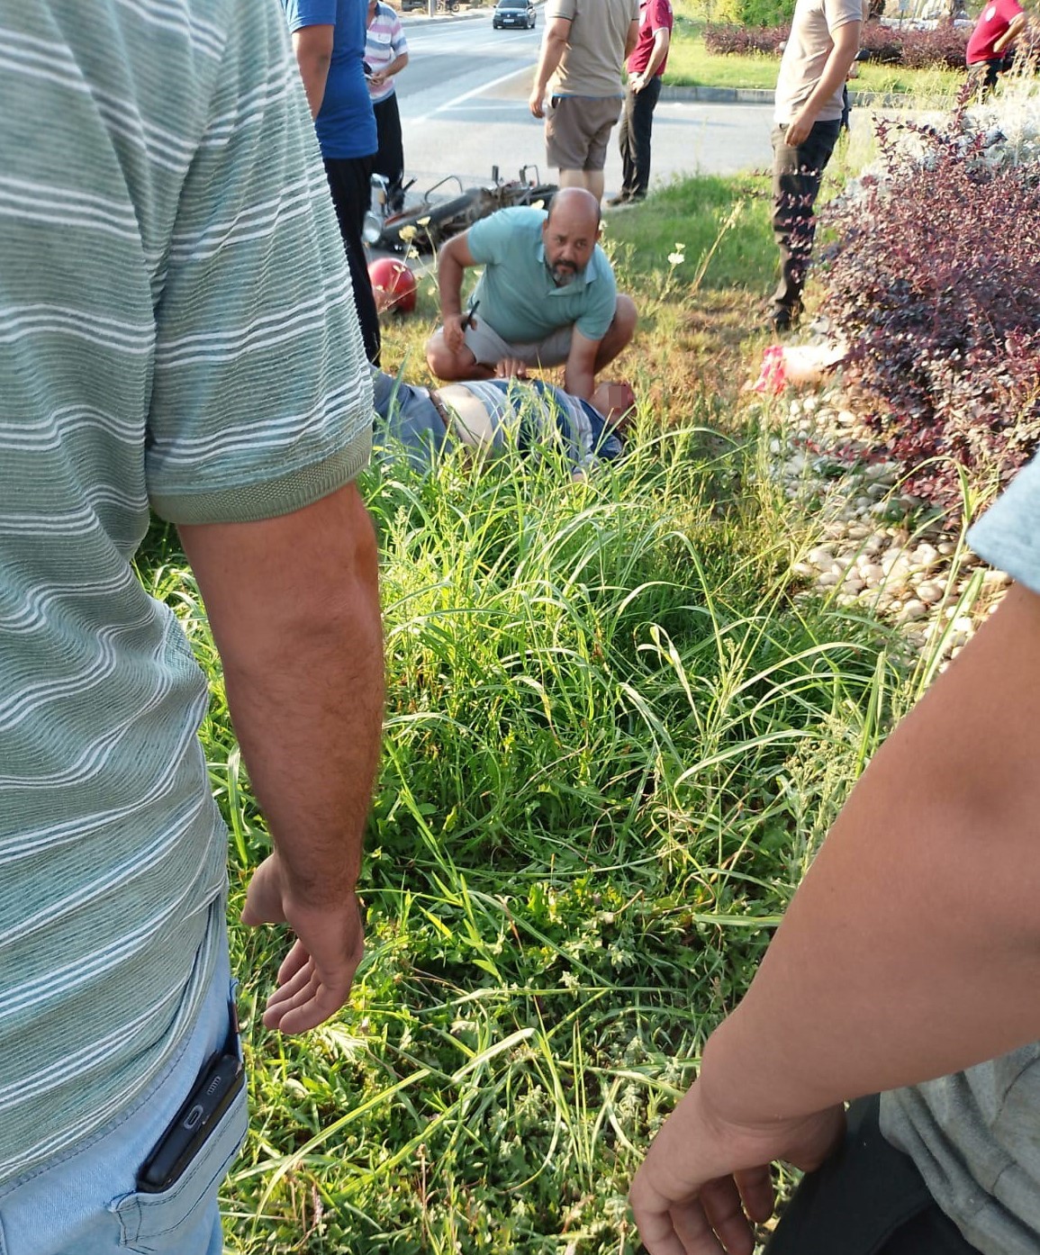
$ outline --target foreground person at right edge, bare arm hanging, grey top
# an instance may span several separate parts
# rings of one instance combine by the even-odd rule
[[[631,1200],[650,1255],[1040,1250],[1040,459],[968,533],[1017,581],[878,750]],[[848,1113],[844,1102],[859,1094]]]

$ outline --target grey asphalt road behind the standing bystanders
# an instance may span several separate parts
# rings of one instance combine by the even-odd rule
[[[491,8],[459,19],[404,19],[408,68],[398,77],[406,177],[417,190],[458,174],[488,181],[492,166],[516,177],[533,164],[546,179],[542,123],[527,107],[542,13],[534,30],[493,30]],[[684,173],[734,173],[770,163],[769,105],[661,100],[654,114],[651,187]],[[621,183],[611,141],[607,195]],[[448,188],[445,188],[445,192]]]

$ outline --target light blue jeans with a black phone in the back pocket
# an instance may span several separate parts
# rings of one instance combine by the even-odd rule
[[[221,925],[223,926],[223,925]],[[221,1255],[217,1190],[246,1136],[246,1091],[164,1194],[137,1172],[228,1030],[227,936],[194,1030],[153,1088],[115,1124],[0,1187],[0,1255]]]

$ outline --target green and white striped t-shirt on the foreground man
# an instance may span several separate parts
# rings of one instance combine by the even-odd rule
[[[0,1181],[183,1040],[225,832],[206,684],[134,579],[174,522],[287,513],[371,394],[273,0],[0,0]]]

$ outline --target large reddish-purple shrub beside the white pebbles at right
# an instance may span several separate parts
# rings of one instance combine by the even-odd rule
[[[960,501],[950,458],[1006,482],[1040,441],[1040,184],[1035,167],[991,168],[992,136],[961,124],[906,124],[923,162],[881,124],[886,177],[824,217],[824,310],[863,417],[911,468],[907,489],[942,507]]]

